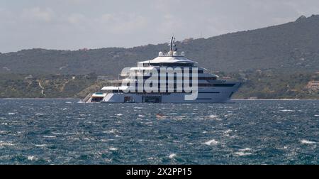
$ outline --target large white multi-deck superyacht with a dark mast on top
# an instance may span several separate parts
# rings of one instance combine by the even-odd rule
[[[184,52],[178,53],[174,37],[169,46],[169,52],[125,68],[120,82],[89,94],[84,102],[221,103],[228,102],[240,87],[240,82],[218,80]]]

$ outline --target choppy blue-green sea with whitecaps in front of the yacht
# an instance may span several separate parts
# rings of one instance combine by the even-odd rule
[[[77,102],[0,99],[0,163],[319,164],[319,101]]]

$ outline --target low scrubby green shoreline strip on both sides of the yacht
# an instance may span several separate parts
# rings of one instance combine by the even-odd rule
[[[274,70],[245,71],[239,73],[217,72],[220,78],[242,82],[242,87],[234,98],[294,98],[319,99],[319,92],[306,88],[308,81],[319,80],[318,74],[286,73]],[[39,85],[42,87],[40,87]],[[107,80],[97,80],[95,74],[89,75],[45,75],[30,78],[26,75],[2,75],[0,77],[0,98],[5,97],[78,97],[84,98],[97,92]]]

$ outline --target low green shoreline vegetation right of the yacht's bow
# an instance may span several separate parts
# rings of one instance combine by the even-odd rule
[[[310,80],[319,80],[318,74],[257,70],[231,73],[227,76],[242,82],[242,87],[235,93],[234,98],[319,99],[319,91],[311,92],[306,88]]]

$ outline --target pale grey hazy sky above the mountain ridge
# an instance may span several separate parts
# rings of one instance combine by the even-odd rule
[[[207,38],[318,13],[318,0],[0,0],[0,52]]]

